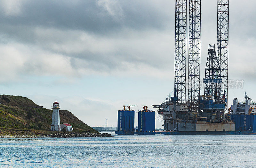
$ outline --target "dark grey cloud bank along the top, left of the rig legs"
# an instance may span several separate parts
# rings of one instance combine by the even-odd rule
[[[9,25],[82,30],[106,35],[123,28],[137,30],[164,29],[171,10],[163,8],[168,1],[67,1],[26,0],[18,15],[1,12],[1,21]],[[172,4],[172,3],[171,3]],[[171,5],[169,5],[171,6]],[[6,6],[2,6],[2,9]],[[17,7],[16,7],[17,8]],[[173,7],[172,7],[173,8]],[[174,17],[174,16],[172,16]]]

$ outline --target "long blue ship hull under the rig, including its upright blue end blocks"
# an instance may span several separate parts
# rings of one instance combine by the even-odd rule
[[[211,103],[209,103],[211,104]],[[235,131],[154,131],[155,112],[139,111],[138,130],[134,129],[134,111],[118,111],[117,135],[239,135],[256,134],[256,115],[230,115]]]

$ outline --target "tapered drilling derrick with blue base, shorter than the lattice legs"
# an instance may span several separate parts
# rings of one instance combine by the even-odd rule
[[[225,121],[225,91],[222,91],[220,78],[220,62],[216,56],[215,45],[209,45],[208,57],[205,67],[204,95],[200,96],[199,108],[203,110],[201,117],[208,122]],[[223,94],[222,94],[223,93]]]

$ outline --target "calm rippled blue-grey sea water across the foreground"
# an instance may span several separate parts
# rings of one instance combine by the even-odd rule
[[[0,167],[256,167],[256,135],[0,139]]]

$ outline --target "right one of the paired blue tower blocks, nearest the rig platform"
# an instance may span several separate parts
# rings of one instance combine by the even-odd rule
[[[151,132],[155,131],[156,112],[151,110],[140,110],[138,114],[138,131]]]

